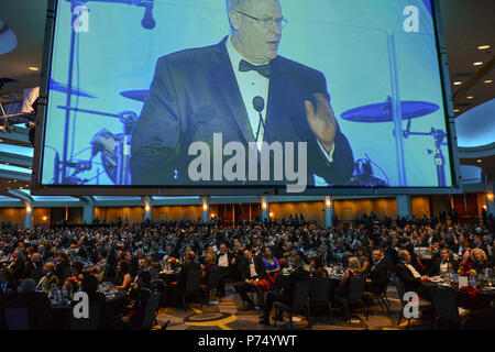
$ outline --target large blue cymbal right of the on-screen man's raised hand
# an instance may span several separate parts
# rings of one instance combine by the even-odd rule
[[[440,109],[436,103],[428,101],[400,101],[403,120],[410,120],[430,114]],[[392,122],[392,102],[372,103],[348,110],[341,114],[342,119],[353,122]]]

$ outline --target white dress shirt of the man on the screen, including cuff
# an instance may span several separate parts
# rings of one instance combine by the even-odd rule
[[[262,97],[265,101],[265,107],[262,110],[261,114],[263,117],[263,121],[266,124],[266,107],[268,106],[268,89],[270,89],[270,79],[262,76],[255,70],[249,70],[249,72],[240,72],[239,70],[239,64],[242,59],[246,61],[251,65],[254,66],[261,66],[266,65],[268,63],[264,64],[253,64],[245,57],[243,57],[233,46],[232,44],[232,36],[229,35],[227,38],[227,53],[229,54],[230,63],[232,65],[232,69],[235,74],[235,79],[238,81],[239,90],[241,91],[242,100],[244,101],[244,107],[248,112],[248,117],[250,119],[251,124],[251,131],[253,132],[253,138],[256,140],[256,131],[257,127],[260,125],[260,136],[256,141],[257,150],[261,151],[261,146],[263,143],[263,136],[264,136],[264,129],[263,124],[260,123],[260,112],[257,112],[254,109],[253,106],[253,99],[254,97]],[[333,151],[336,150],[336,146],[333,145],[330,153],[327,153],[321,145],[320,141],[318,141],[318,145],[320,146],[321,152],[327,157],[327,160],[332,163],[333,162]]]

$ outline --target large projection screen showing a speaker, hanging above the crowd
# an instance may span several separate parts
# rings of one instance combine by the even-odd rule
[[[239,2],[52,0],[33,193],[455,190],[433,1]]]

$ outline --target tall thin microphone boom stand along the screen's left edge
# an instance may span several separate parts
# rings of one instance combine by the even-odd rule
[[[68,77],[67,77],[67,99],[66,99],[66,107],[70,107],[72,103],[72,97],[73,97],[73,76],[74,76],[74,48],[76,43],[76,31],[74,30],[74,22],[77,18],[77,15],[74,13],[74,10],[82,6],[87,2],[94,1],[94,2],[107,2],[107,3],[124,3],[129,6],[136,6],[142,7],[146,9],[153,8],[154,0],[66,0],[67,2],[70,2],[70,14],[72,14],[72,22],[70,22],[70,47],[69,47],[69,65],[68,65]],[[66,184],[69,179],[67,177],[68,174],[68,135],[69,135],[69,122],[70,122],[70,110],[66,109],[65,111],[65,127],[64,127],[64,144],[63,144],[63,152],[62,152],[62,185]],[[58,175],[55,177],[55,179],[58,178]]]

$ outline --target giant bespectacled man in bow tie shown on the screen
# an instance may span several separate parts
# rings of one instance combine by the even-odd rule
[[[285,22],[278,0],[228,0],[227,6],[229,36],[217,45],[158,59],[133,130],[132,184],[198,185],[189,178],[188,167],[197,156],[188,155],[188,150],[202,142],[213,152],[213,133],[222,134],[223,144],[242,143],[250,154],[260,153],[263,142],[306,142],[307,155],[301,157],[307,158],[307,170],[299,173],[307,172],[307,184],[346,184],[354,160],[330,106],[324,75],[277,55]],[[245,161],[245,172],[254,168],[253,163],[256,166],[255,161]],[[260,178],[241,175],[229,180],[283,182],[275,180],[271,170],[267,183]],[[222,185],[226,179],[201,182]]]

